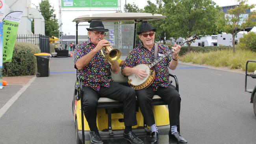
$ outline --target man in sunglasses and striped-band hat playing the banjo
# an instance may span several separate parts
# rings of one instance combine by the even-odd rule
[[[150,75],[146,70],[137,68],[135,66],[140,64],[149,64],[155,61],[157,57],[169,52],[169,48],[163,44],[155,44],[155,32],[149,23],[144,22],[140,26],[140,31],[137,33],[142,44],[137,46],[127,56],[124,64],[122,65],[122,74],[124,76],[131,76],[135,74],[137,79],[145,79]],[[179,143],[187,143],[187,141],[180,135],[180,94],[171,85],[169,81],[169,70],[175,70],[178,65],[178,54],[181,46],[174,44],[173,55],[168,55],[157,65],[154,66],[155,76],[152,84],[145,89],[135,89],[141,113],[148,126],[151,127],[150,141],[157,144],[159,141],[158,128],[154,120],[154,113],[152,110],[152,98],[154,95],[160,96],[165,102],[168,103],[170,131],[169,138],[178,141]],[[156,52],[156,53],[155,53]]]

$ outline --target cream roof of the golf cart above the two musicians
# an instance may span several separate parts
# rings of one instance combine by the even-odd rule
[[[80,22],[88,22],[91,20],[101,20],[104,22],[120,22],[120,21],[149,21],[160,20],[165,18],[161,14],[152,13],[97,13],[93,15],[82,15],[73,20],[77,24]]]

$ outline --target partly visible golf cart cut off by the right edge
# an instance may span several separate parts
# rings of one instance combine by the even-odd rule
[[[249,76],[251,78],[256,78],[256,70],[254,71],[253,74],[248,74],[248,63],[256,63],[256,61],[247,61],[245,67],[245,91],[252,94],[250,97],[250,103],[253,103],[253,110],[256,116],[256,85],[254,86],[254,89],[247,89],[247,77]]]

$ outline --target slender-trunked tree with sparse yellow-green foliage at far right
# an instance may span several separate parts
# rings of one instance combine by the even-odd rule
[[[245,4],[247,0],[237,0],[239,3],[233,9],[229,9],[228,14],[225,16],[225,31],[227,33],[232,34],[232,44],[233,44],[233,53],[235,53],[235,36],[239,31],[243,31],[245,28],[254,26],[256,22],[252,21],[255,18],[255,11],[250,13],[248,17],[246,17],[245,12],[247,9],[252,9],[255,5]]]

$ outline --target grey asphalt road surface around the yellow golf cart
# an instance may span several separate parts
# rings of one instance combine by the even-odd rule
[[[72,58],[52,58],[50,72],[49,77],[35,78],[0,118],[0,144],[76,143]],[[178,76],[182,97],[181,134],[189,144],[256,143],[256,117],[250,94],[244,92],[245,74],[185,64],[172,73]],[[248,85],[256,81],[249,78]],[[122,139],[104,142],[127,143]],[[161,135],[160,144],[168,143],[167,136]]]

